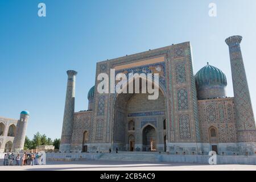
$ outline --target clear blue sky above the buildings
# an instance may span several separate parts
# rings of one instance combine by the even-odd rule
[[[39,18],[38,3],[47,16]],[[217,5],[217,17],[208,5]],[[207,61],[228,78],[224,40],[242,35],[243,60],[256,114],[256,1],[0,1],[0,115],[31,113],[27,135],[60,138],[68,69],[78,72],[75,110],[88,107],[96,63],[172,43],[190,41],[193,71]]]

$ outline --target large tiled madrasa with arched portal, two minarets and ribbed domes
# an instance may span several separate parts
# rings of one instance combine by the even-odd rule
[[[168,154],[256,155],[256,130],[240,48],[229,47],[234,97],[225,74],[207,63],[194,75],[189,42],[97,63],[86,111],[75,112],[76,71],[67,71],[61,152],[159,151]],[[228,61],[226,62],[228,64]],[[159,97],[98,93],[97,76],[159,73]]]

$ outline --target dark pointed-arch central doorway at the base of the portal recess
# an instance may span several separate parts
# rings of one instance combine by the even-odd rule
[[[147,125],[142,131],[143,151],[156,151],[156,132],[155,128]]]

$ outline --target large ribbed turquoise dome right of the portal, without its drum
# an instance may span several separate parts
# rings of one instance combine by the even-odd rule
[[[209,65],[209,63],[196,73],[195,81],[197,87],[227,85],[225,74],[220,69]]]

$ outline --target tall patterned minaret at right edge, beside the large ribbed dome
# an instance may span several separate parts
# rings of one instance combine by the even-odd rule
[[[242,36],[230,36],[225,40],[229,46],[232,71],[234,105],[236,108],[236,124],[238,142],[256,142],[255,120],[251,106],[245,67],[243,65],[240,43]],[[253,151],[252,151],[253,152]]]

